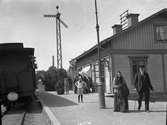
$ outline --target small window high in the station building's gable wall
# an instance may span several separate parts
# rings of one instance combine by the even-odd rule
[[[167,41],[167,25],[156,26],[156,38],[158,41]]]

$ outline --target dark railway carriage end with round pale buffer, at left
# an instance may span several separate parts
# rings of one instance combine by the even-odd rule
[[[34,95],[33,48],[24,48],[22,43],[0,44],[0,91],[4,105]]]

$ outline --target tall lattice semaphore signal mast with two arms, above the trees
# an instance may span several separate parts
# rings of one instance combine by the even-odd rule
[[[68,26],[60,19],[59,6],[56,6],[57,14],[56,15],[44,15],[44,17],[55,18],[56,19],[56,43],[57,43],[57,68],[63,68],[62,61],[62,46],[61,46],[61,24],[64,27],[68,28]]]

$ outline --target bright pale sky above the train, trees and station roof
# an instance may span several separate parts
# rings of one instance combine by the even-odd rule
[[[139,13],[139,21],[160,11],[167,0],[97,0],[100,40],[112,36],[112,26],[120,23],[119,15],[125,10]],[[56,14],[59,6],[63,68],[69,61],[96,45],[94,0],[0,0],[0,43],[21,42],[35,48],[38,70],[47,70],[56,64],[55,19],[44,14]]]

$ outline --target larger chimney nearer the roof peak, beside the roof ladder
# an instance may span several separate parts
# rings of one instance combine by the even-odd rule
[[[139,14],[134,14],[134,13],[130,13],[127,15],[128,27],[138,23],[138,16]]]

